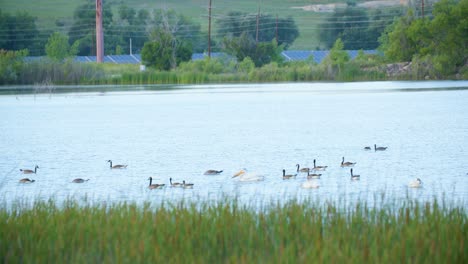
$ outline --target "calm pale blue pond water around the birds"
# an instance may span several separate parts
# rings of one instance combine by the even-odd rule
[[[382,195],[468,204],[467,81],[67,89],[34,94],[26,87],[0,96],[0,200],[6,204],[226,197],[250,205],[374,203]],[[374,144],[388,149],[363,149]],[[360,181],[340,167],[342,157],[357,162]],[[128,167],[110,169],[109,159]],[[283,180],[283,169],[313,167],[314,159],[328,166],[320,188],[301,188],[304,173]],[[35,165],[37,174],[20,172]],[[264,180],[232,178],[241,168]],[[208,169],[223,173],[203,175]],[[149,190],[150,176],[166,187]],[[35,182],[19,183],[24,177]],[[75,178],[89,181],[71,183]],[[195,185],[171,188],[169,178]],[[414,178],[422,188],[408,188]]]

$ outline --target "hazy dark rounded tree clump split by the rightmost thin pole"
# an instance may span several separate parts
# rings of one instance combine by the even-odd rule
[[[257,14],[247,14],[238,11],[229,12],[217,20],[217,33],[220,37],[240,37],[247,34],[256,39]],[[278,30],[278,31],[276,31]],[[270,14],[261,14],[259,17],[258,41],[271,42],[276,39],[277,43],[287,49],[299,36],[299,30],[292,17],[278,18]]]

